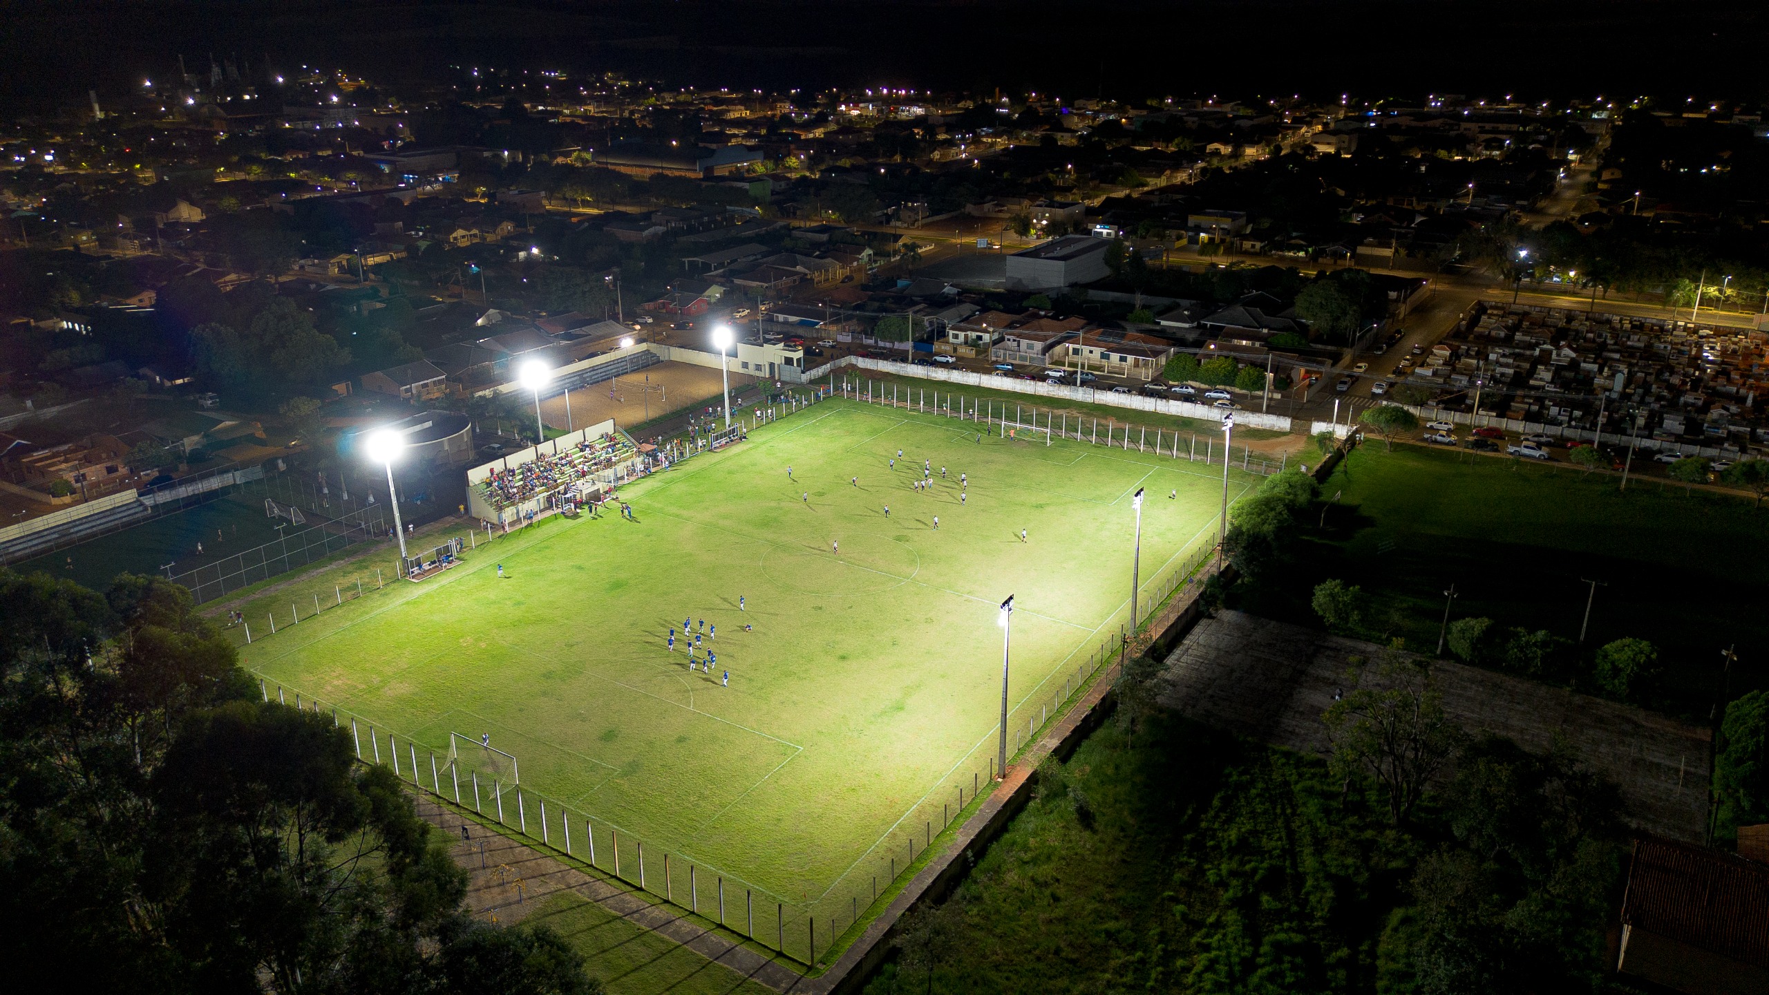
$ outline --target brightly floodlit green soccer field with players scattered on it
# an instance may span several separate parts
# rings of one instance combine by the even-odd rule
[[[957,788],[968,804],[987,770],[999,602],[1015,595],[1012,747],[1129,618],[1136,489],[1148,490],[1145,598],[1215,538],[1221,464],[976,439],[968,421],[828,400],[624,487],[635,521],[548,521],[435,581],[260,637],[242,659],[290,699],[373,722],[382,751],[393,733],[407,777],[416,742],[426,786],[426,751],[490,733],[520,761],[531,836],[538,793],[554,846],[561,804],[578,857],[584,816],[601,866],[619,832],[630,880],[642,841],[649,891],[704,914],[724,878],[725,921],[741,931],[732,889],[754,889],[770,942],[775,903],[791,922],[794,905],[839,899],[842,929],[869,905],[870,875],[883,892],[890,860],[918,855],[941,806],[957,813]],[[918,492],[923,459],[932,487]],[[1229,498],[1256,482],[1231,469]],[[690,673],[685,620],[716,627],[699,655],[716,652],[718,673]],[[440,783],[448,793],[446,772]],[[826,924],[819,912],[819,951]],[[803,933],[787,945],[801,953]]]

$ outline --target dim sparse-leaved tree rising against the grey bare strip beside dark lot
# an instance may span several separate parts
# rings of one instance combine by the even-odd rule
[[[1403,825],[1463,731],[1444,712],[1431,675],[1399,643],[1389,646],[1373,687],[1334,701],[1323,715],[1332,767],[1346,777],[1366,774],[1389,797],[1389,818]]]

